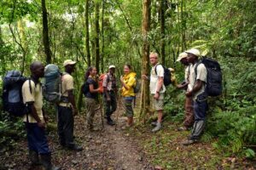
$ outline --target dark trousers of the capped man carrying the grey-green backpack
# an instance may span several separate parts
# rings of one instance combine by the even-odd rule
[[[58,105],[58,134],[62,145],[73,145],[73,111]]]

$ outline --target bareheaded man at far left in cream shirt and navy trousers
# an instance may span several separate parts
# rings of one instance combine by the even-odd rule
[[[27,143],[29,149],[29,158],[32,166],[38,166],[41,163],[47,170],[57,170],[51,163],[49,144],[46,139],[45,123],[48,121],[43,110],[42,85],[39,78],[44,77],[44,65],[41,62],[33,62],[30,65],[32,73],[31,78],[22,85],[23,102],[26,104],[27,114],[23,117],[26,122]],[[38,154],[41,156],[39,161]]]

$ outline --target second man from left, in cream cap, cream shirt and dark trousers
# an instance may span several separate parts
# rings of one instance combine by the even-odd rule
[[[61,77],[61,102],[58,105],[58,134],[60,144],[70,150],[80,151],[83,148],[73,141],[73,116],[78,114],[73,94],[73,77],[76,62],[64,61],[65,72]]]

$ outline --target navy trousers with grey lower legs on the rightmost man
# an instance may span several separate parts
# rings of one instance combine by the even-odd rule
[[[201,94],[194,101],[195,123],[190,139],[200,139],[206,125],[207,118],[207,96]]]

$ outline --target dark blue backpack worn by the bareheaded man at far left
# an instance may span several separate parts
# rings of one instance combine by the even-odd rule
[[[3,110],[13,116],[24,116],[27,113],[23,103],[21,88],[27,80],[20,71],[8,71],[3,77]],[[30,91],[32,92],[31,84]]]

